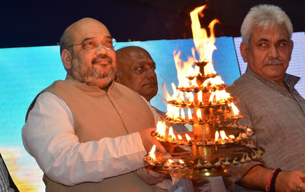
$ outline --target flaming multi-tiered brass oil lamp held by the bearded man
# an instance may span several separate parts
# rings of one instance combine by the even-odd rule
[[[204,8],[205,5],[197,7],[190,13],[194,44],[200,58],[196,59],[195,49],[192,49],[193,58],[183,62],[179,58],[181,52],[174,51],[179,85],[172,83],[173,95],[167,94],[167,113],[151,133],[160,142],[187,145],[191,151],[171,153],[168,158],[168,153],[156,152],[154,146],[144,157],[156,172],[178,173],[189,179],[226,176],[230,174],[228,165],[253,161],[265,152],[250,140],[255,134],[250,124],[243,126],[237,121],[243,116],[233,103],[236,98],[225,91],[229,86],[213,68],[212,53],[216,49],[213,28],[218,20],[210,23],[208,37],[198,17],[203,15]],[[229,120],[234,122],[222,125]],[[174,132],[172,127],[167,129],[165,122],[188,123],[193,129],[192,132]]]

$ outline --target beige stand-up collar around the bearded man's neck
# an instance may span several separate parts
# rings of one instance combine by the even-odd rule
[[[87,85],[87,84],[79,82],[78,80],[76,80],[72,76],[70,76],[68,73],[66,75],[65,81],[67,83],[72,84],[73,86],[79,88],[80,90],[82,90],[84,92],[103,92],[103,93],[106,93],[106,91],[100,89],[97,86]],[[109,84],[108,91],[107,91],[108,94],[110,93],[110,91],[111,91],[112,87],[114,86],[114,84],[115,84],[114,81],[111,84]]]

